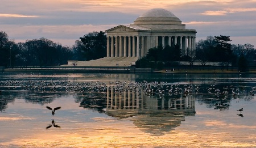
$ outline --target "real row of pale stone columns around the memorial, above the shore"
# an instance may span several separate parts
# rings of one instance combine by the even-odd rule
[[[162,43],[159,43],[159,41]],[[183,55],[196,48],[195,36],[107,36],[107,57],[143,57],[148,49],[179,44]]]

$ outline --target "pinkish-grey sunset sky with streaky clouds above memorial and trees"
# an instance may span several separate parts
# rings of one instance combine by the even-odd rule
[[[256,46],[256,0],[0,0],[0,31],[24,42],[45,37],[72,46],[92,31],[133,23],[150,9],[166,9],[196,41],[207,36],[230,36],[231,44]]]

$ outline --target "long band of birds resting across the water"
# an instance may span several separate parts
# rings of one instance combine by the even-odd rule
[[[106,92],[108,89],[115,93],[122,93],[124,91],[136,91],[144,92],[148,96],[163,96],[172,94],[199,94],[207,93],[214,94],[217,97],[223,95],[232,95],[233,98],[245,94],[245,88],[226,86],[220,88],[214,84],[202,87],[201,84],[179,84],[179,83],[167,83],[167,82],[121,82],[114,81],[103,83],[103,82],[71,82],[71,81],[55,81],[55,80],[8,80],[0,81],[0,86],[5,87],[7,90],[31,90],[31,91],[65,91],[65,92]],[[251,90],[247,93],[254,95],[256,87],[251,87]]]

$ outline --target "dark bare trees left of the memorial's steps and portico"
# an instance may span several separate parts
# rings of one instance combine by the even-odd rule
[[[96,54],[97,53],[97,54]],[[106,56],[105,32],[90,32],[72,47],[62,46],[44,37],[15,43],[0,31],[0,66],[54,66],[68,60],[88,61]]]

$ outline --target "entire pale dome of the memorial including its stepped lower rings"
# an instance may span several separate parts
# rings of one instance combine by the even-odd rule
[[[134,20],[134,24],[181,24],[181,20],[165,9],[151,9]]]

